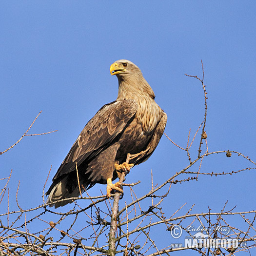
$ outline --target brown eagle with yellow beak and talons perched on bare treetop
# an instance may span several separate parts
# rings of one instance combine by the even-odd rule
[[[78,177],[82,192],[96,183],[107,184],[107,196],[112,190],[122,192],[121,186],[112,184],[118,172],[147,160],[158,145],[167,115],[140,69],[120,59],[110,66],[110,73],[118,77],[118,98],[104,105],[85,125],[53,178],[47,203],[78,197]],[[125,162],[128,153],[142,151],[129,164]],[[70,202],[56,202],[55,208]]]

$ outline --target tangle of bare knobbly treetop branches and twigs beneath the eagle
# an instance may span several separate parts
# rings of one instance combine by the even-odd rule
[[[189,129],[185,146],[177,145],[166,135],[175,146],[185,151],[189,160],[187,166],[180,168],[179,171],[173,173],[161,184],[154,184],[152,174],[151,187],[143,188],[145,193],[142,196],[137,195],[137,186],[141,186],[139,181],[132,184],[123,184],[125,173],[122,173],[119,179],[119,182],[126,186],[124,195],[116,192],[112,195],[113,200],[104,195],[90,197],[87,191],[85,191],[87,196],[82,197],[82,190],[79,186],[79,197],[72,198],[74,204],[69,204],[59,211],[52,211],[48,208],[49,204],[45,204],[44,201],[44,192],[42,193],[43,203],[41,205],[31,209],[21,207],[18,201],[20,184],[16,191],[17,204],[15,206],[11,199],[11,193],[13,192],[8,187],[12,175],[11,171],[8,177],[0,178],[0,186],[2,187],[0,190],[0,256],[26,254],[33,256],[114,256],[117,254],[124,256],[158,256],[170,255],[182,250],[193,250],[194,253],[202,256],[231,256],[235,253],[237,255],[239,252],[249,252],[249,255],[252,255],[250,251],[256,247],[256,210],[235,211],[236,206],[230,207],[226,202],[220,212],[213,212],[209,207],[207,211],[198,213],[195,210],[195,204],[188,205],[188,203],[182,202],[178,209],[173,209],[170,203],[167,203],[169,207],[166,207],[164,203],[166,198],[170,198],[172,188],[176,184],[199,180],[202,175],[209,177],[236,175],[240,172],[249,172],[256,169],[256,161],[240,152],[232,150],[209,152],[205,132],[207,92],[204,85],[203,64],[202,79],[197,76],[189,77],[198,79],[203,87],[205,99],[203,121],[198,126],[194,136],[191,129]],[[13,146],[1,154],[17,145],[24,136],[29,136],[27,133],[33,123]],[[194,142],[197,141],[196,137],[199,131],[201,136],[199,145],[195,150]],[[205,153],[202,153],[202,150],[205,150]],[[193,159],[191,156],[194,154],[191,153],[195,151],[198,151],[198,154]],[[139,155],[143,153],[141,152],[136,156],[128,154],[126,162],[129,163],[129,160],[135,157],[139,158]],[[202,172],[201,164],[204,158],[217,154],[226,154],[228,158],[237,155],[244,158],[248,166],[227,172]],[[191,167],[195,166],[196,163],[198,163],[198,169],[192,170]],[[50,172],[48,177],[49,174]],[[45,184],[43,185],[43,191]],[[128,189],[130,189],[130,195]],[[63,200],[70,200],[70,198],[59,201]],[[230,208],[228,209],[228,207]],[[179,225],[185,234],[184,236],[190,237],[194,235],[190,226],[201,225],[204,228],[205,235],[207,234],[212,238],[237,239],[238,247],[187,248],[184,244],[174,247],[171,242],[163,245],[165,239],[159,239],[159,234],[161,237],[167,237],[166,240],[173,241],[171,232],[174,225]],[[190,253],[191,251],[188,252],[188,254]]]

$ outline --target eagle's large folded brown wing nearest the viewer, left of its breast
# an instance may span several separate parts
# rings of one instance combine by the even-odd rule
[[[53,180],[75,170],[83,161],[90,161],[118,137],[134,118],[138,105],[133,99],[104,105],[85,125]]]

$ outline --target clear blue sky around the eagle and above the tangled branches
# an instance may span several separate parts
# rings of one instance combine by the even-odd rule
[[[141,69],[168,115],[166,134],[181,146],[189,128],[194,134],[203,120],[201,85],[184,76],[201,76],[202,59],[209,150],[237,150],[255,160],[255,10],[252,0],[2,1],[0,151],[16,142],[41,110],[31,133],[59,130],[26,137],[0,156],[0,178],[13,169],[10,207],[15,209],[19,180],[22,207],[41,203],[50,166],[52,178],[86,122],[116,99],[118,80],[109,66],[117,59],[129,59]],[[127,182],[145,179],[137,188],[142,193],[150,186],[151,169],[160,183],[187,164],[186,154],[163,137]],[[205,159],[201,170],[249,166],[237,156],[217,155]],[[217,212],[229,200],[228,206],[236,205],[237,211],[253,210],[255,178],[255,171],[200,177],[174,186],[166,207],[175,211],[188,202],[196,203],[197,212],[207,212],[208,205]],[[91,195],[99,195],[99,188],[105,190],[95,186]],[[171,237],[166,239],[171,243]]]

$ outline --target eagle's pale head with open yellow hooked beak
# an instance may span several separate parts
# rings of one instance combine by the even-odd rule
[[[129,75],[141,74],[140,69],[127,59],[119,59],[110,66],[110,74],[117,75],[117,77],[125,77]]]

